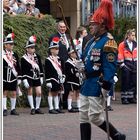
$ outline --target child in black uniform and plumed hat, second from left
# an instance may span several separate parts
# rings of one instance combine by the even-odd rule
[[[25,49],[26,53],[21,58],[22,79],[27,89],[28,101],[31,107],[31,115],[44,114],[40,109],[41,85],[43,84],[43,67],[40,56],[35,52],[36,36],[29,37]],[[34,106],[33,87],[36,92]]]

